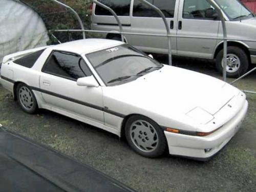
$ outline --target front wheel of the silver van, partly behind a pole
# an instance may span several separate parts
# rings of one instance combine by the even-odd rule
[[[238,78],[246,73],[249,67],[249,59],[245,51],[239,47],[230,46],[227,48],[227,77]],[[219,51],[216,57],[216,67],[223,73],[223,49]]]

